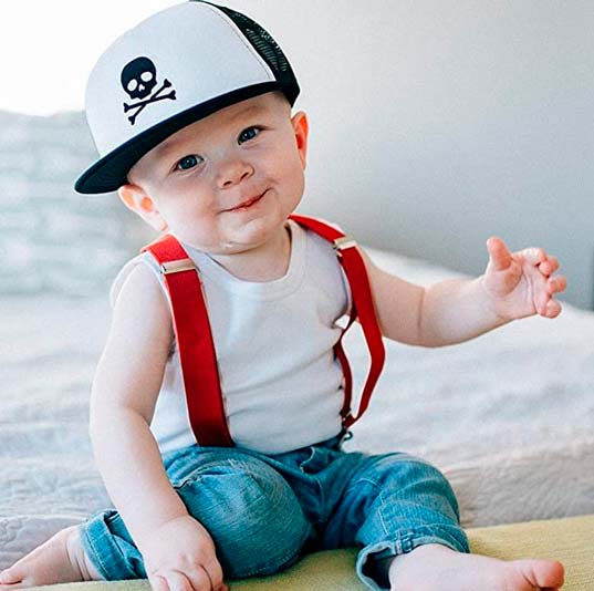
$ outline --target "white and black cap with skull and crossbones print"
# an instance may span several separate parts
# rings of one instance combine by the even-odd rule
[[[86,87],[86,120],[100,159],[79,193],[110,193],[147,152],[186,125],[271,91],[292,105],[299,84],[257,22],[227,7],[188,0],[157,12],[100,58]]]

